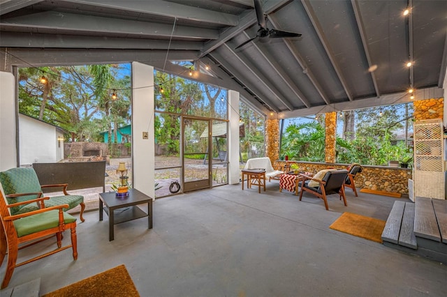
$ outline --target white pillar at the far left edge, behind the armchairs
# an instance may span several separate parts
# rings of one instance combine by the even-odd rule
[[[0,71],[0,171],[17,167],[15,77]]]

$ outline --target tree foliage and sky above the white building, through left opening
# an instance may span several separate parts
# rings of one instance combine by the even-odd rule
[[[129,123],[130,77],[119,66],[60,66],[19,69],[19,111],[58,125],[78,141],[101,139],[99,132]],[[39,78],[45,75],[46,84]],[[110,101],[111,88],[120,89]],[[110,139],[109,135],[109,139]],[[117,139],[117,137],[115,137]]]

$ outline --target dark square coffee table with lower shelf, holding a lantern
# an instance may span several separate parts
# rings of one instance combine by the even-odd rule
[[[138,204],[147,203],[147,213]],[[116,212],[119,210],[119,212]],[[114,239],[114,225],[147,217],[147,229],[152,229],[152,198],[139,190],[129,189],[129,197],[117,198],[115,192],[99,194],[99,220],[103,220],[103,211],[109,216],[109,241]]]

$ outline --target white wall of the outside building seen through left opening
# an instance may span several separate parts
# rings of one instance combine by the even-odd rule
[[[58,135],[54,125],[19,114],[20,166],[60,161],[64,144],[59,147]]]

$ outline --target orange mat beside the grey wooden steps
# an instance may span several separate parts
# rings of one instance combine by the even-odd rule
[[[340,232],[358,236],[382,243],[382,232],[386,221],[356,215],[356,213],[343,213],[329,228]]]

